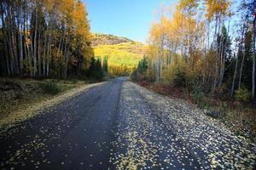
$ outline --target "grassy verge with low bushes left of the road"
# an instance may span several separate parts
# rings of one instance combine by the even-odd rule
[[[35,103],[89,83],[80,80],[0,78],[0,119],[12,112],[26,109]]]

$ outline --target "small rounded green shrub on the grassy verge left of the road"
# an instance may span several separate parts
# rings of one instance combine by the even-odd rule
[[[41,88],[46,94],[59,94],[61,87],[55,81],[45,81],[40,84]]]

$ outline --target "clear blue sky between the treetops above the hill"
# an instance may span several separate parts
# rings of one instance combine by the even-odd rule
[[[176,0],[175,0],[176,1]],[[170,0],[83,0],[90,30],[146,42],[156,11]]]

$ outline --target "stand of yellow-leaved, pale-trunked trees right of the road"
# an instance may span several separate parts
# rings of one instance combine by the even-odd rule
[[[175,8],[164,6],[131,77],[167,83],[195,97],[255,99],[255,5],[181,0]]]

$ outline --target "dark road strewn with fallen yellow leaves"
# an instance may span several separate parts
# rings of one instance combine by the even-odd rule
[[[119,77],[0,133],[1,169],[253,169],[256,147]]]

